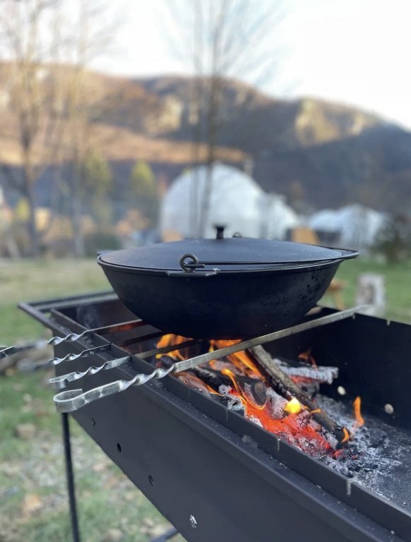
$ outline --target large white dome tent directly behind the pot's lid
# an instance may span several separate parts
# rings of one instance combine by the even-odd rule
[[[183,238],[201,234],[208,168],[200,166],[175,179],[165,194],[160,212],[160,233],[174,231]],[[225,225],[225,235],[283,239],[297,225],[294,211],[283,198],[267,195],[249,175],[234,167],[213,167],[205,237],[215,236],[215,224]]]

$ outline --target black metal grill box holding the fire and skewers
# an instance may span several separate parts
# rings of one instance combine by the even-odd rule
[[[141,321],[119,328],[136,319],[114,294],[21,307],[56,336],[81,335],[54,349],[59,359],[73,354],[56,364],[56,377],[66,375],[69,360],[71,373],[85,373],[85,392],[153,371],[144,352],[153,354],[160,330]],[[323,309],[311,318],[337,314]],[[347,397],[362,396],[366,414],[411,430],[411,326],[365,315],[335,320],[277,337],[266,348],[289,359],[315,348],[319,363],[339,368],[338,385]],[[88,349],[94,349],[96,367],[126,361],[109,371],[88,372],[90,360],[78,355]],[[65,384],[68,390],[76,387],[75,380]],[[338,397],[337,385],[329,395]],[[393,414],[384,410],[388,403]],[[170,375],[92,402],[73,417],[188,540],[411,540],[410,487],[398,487],[405,505],[383,498]],[[404,472],[409,460],[404,458]],[[72,510],[73,495],[72,488]]]

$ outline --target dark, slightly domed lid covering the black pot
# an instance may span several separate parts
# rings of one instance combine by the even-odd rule
[[[245,271],[342,260],[356,255],[354,251],[291,241],[231,237],[188,239],[110,251],[100,254],[98,262],[136,270],[193,271],[218,267],[221,271]]]

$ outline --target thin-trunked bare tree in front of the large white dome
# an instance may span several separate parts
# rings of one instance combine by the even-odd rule
[[[282,1],[196,0],[169,4],[174,20],[174,51],[193,68],[193,141],[207,145],[207,175],[202,209],[197,219],[198,236],[203,236],[210,207],[216,147],[224,119],[227,78],[252,78],[261,83],[277,68],[277,55],[269,37],[282,20]],[[192,49],[187,52],[187,35],[193,32]],[[182,40],[179,41],[179,37]],[[179,44],[182,46],[179,48]],[[195,148],[196,148],[195,147]],[[198,151],[193,152],[198,163]],[[193,203],[198,201],[198,182],[193,183]],[[193,205],[193,212],[198,204]]]

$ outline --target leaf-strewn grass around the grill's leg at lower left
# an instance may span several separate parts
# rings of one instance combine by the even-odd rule
[[[45,386],[49,376],[38,372],[0,378],[1,542],[71,540],[60,421]],[[35,436],[17,438],[19,423],[32,423]],[[124,533],[123,542],[146,542],[150,530],[141,527],[147,519],[156,529],[167,529],[155,507],[76,423],[71,423],[71,438],[84,541],[101,542],[109,529],[117,529]],[[39,510],[25,510],[29,495],[39,500]]]

